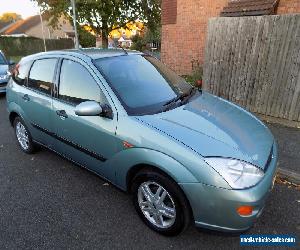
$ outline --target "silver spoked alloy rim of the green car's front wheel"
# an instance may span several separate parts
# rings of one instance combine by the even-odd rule
[[[140,209],[149,222],[159,228],[171,227],[176,219],[175,203],[160,184],[144,182],[138,189]]]

